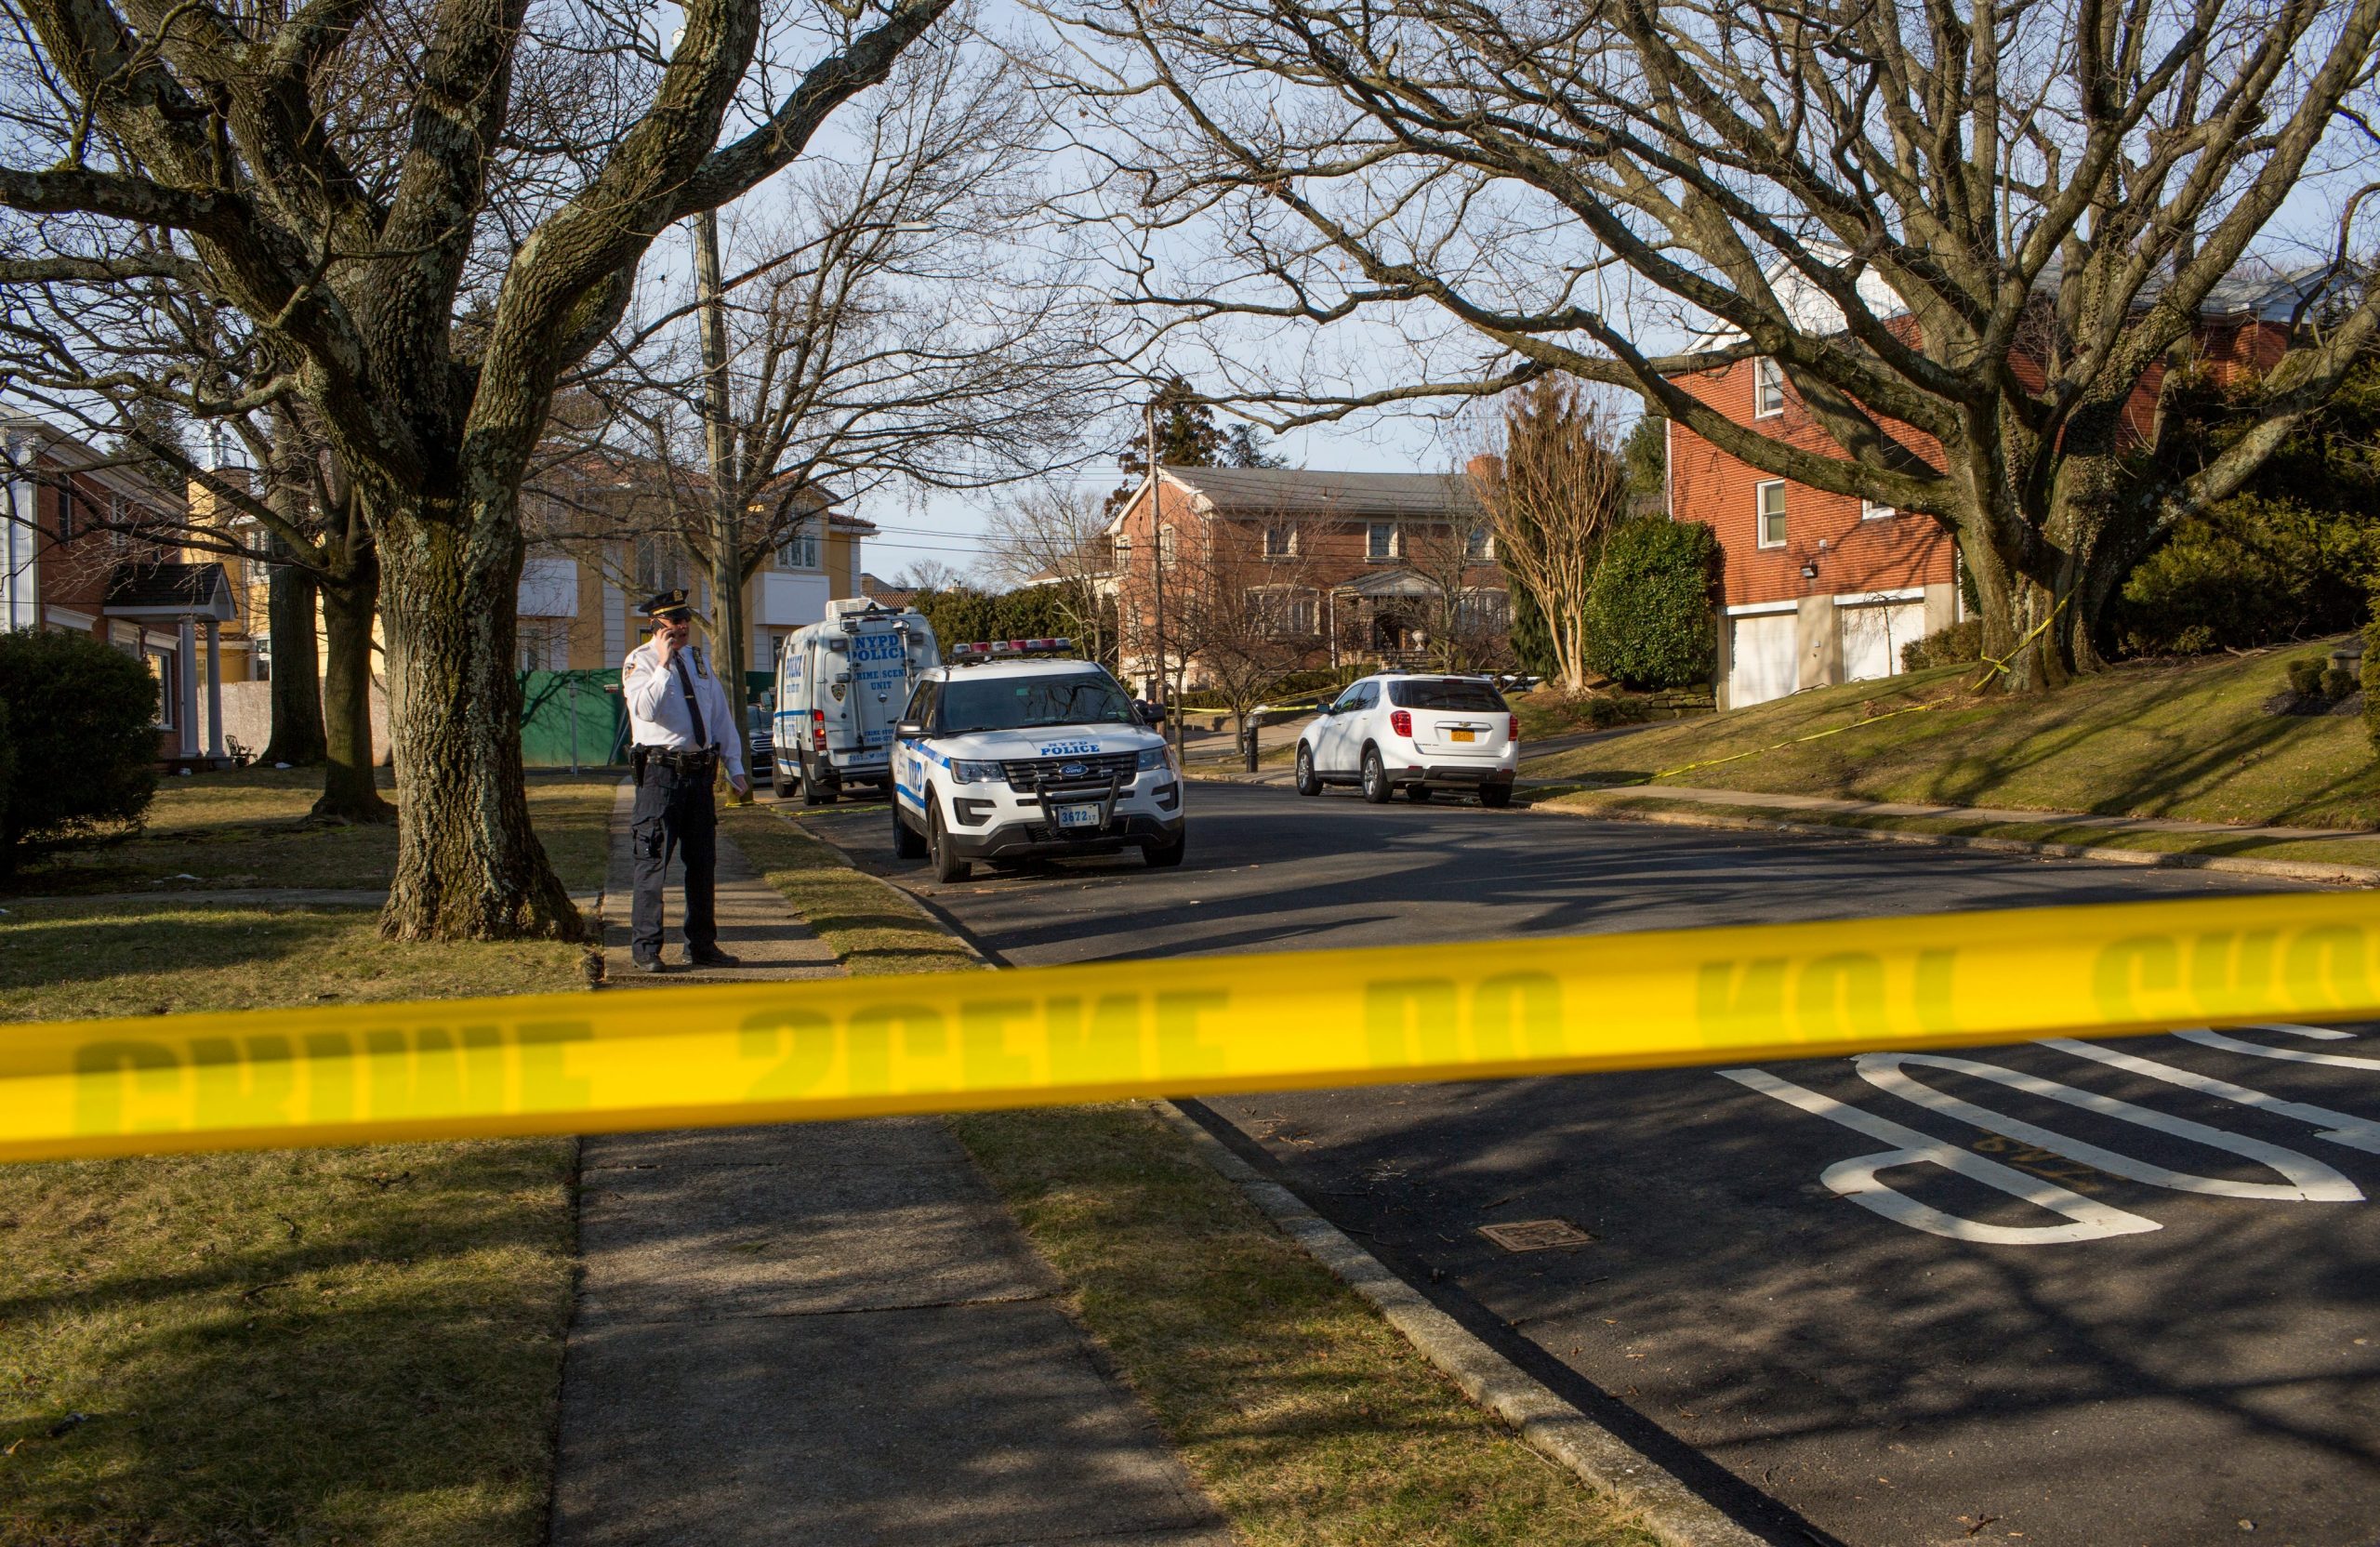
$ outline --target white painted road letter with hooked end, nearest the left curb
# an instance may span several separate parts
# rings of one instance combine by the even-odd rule
[[[1892,1119],[1861,1111],[1859,1107],[1847,1107],[1835,1097],[1818,1095],[1816,1090],[1804,1090],[1790,1081],[1780,1081],[1766,1069],[1721,1069],[1721,1076],[1771,1095],[1787,1107],[1799,1107],[1811,1116],[1823,1116],[1830,1123],[1842,1123],[1844,1128],[1873,1138],[1885,1145],[1894,1145],[1880,1154],[1859,1154],[1844,1161],[1835,1161],[1818,1180],[1823,1180],[1835,1195],[1852,1200],[1861,1209],[1883,1214],[1892,1223],[1909,1226],[1911,1230],[1925,1230],[1930,1235],[1947,1235],[1949,1240],[1973,1240],[1983,1245],[2002,1247],[2035,1247],[2056,1245],[2068,1240],[2104,1240],[2109,1235],[2140,1235],[2144,1230],[2161,1230],[2154,1219],[2142,1219],[2140,1214],[2128,1214],[2102,1202],[2092,1202],[2080,1192],[2059,1188],[2056,1183],[2025,1176],[2013,1166],[2002,1166],[1999,1161],[1985,1159],[1980,1154],[1968,1154],[1956,1145],[1935,1140],[1916,1128],[1904,1128]],[[2052,1214],[2063,1214],[2068,1223],[2063,1226],[1992,1226],[1980,1219],[1966,1219],[1961,1214],[1947,1214],[1930,1204],[1921,1204],[1906,1192],[1897,1192],[1878,1180],[1878,1171],[1890,1166],[1942,1166],[1944,1171],[1956,1171],[1959,1176],[1983,1183],[2006,1192],[2009,1197],[2023,1200]]]

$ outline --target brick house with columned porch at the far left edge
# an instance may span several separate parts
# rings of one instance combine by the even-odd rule
[[[224,762],[221,685],[226,666],[231,681],[250,671],[259,588],[186,552],[171,531],[190,519],[183,497],[107,452],[38,419],[0,424],[0,628],[88,633],[145,662],[159,683],[157,757]]]

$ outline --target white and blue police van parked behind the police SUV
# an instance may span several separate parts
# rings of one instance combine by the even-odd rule
[[[871,597],[826,605],[826,621],[785,635],[776,657],[778,800],[821,804],[852,785],[892,783],[892,724],[940,654],[926,614]]]

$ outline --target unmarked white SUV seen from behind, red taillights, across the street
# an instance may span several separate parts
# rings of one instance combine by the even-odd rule
[[[1366,676],[1297,735],[1299,795],[1354,783],[1380,804],[1399,788],[1414,800],[1478,790],[1483,807],[1504,807],[1518,766],[1521,716],[1480,676]]]

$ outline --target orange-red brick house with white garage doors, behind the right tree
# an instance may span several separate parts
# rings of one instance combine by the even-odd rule
[[[1840,312],[1797,276],[1773,274],[1778,295],[1804,331],[1840,326]],[[2204,307],[2199,347],[2218,381],[2280,357],[2290,319],[2316,283],[2309,274],[2237,276]],[[1878,317],[1894,312],[1880,286],[1866,295]],[[1697,347],[1721,347],[1709,333]],[[2135,388],[2125,419],[2147,433],[2163,367]],[[1678,386],[1735,424],[1802,450],[1842,450],[1802,407],[1773,359],[1740,359],[1678,376]],[[1933,440],[1892,426],[1921,455]],[[1759,704],[1802,688],[1856,683],[1902,669],[1902,645],[1964,616],[1956,543],[1933,516],[1902,514],[1790,478],[1773,478],[1695,431],[1668,426],[1668,514],[1702,521],[1726,550],[1718,619],[1718,704]]]

